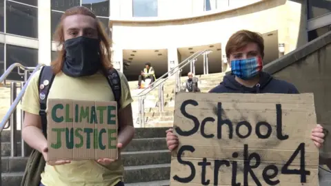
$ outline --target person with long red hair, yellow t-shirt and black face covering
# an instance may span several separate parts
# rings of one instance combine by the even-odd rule
[[[54,80],[49,99],[83,101],[114,101],[114,94],[103,72],[112,69],[110,41],[103,26],[88,8],[77,6],[64,12],[55,32],[59,54],[51,66]],[[32,75],[23,97],[25,111],[22,137],[48,159],[48,143],[41,132],[39,116],[39,74]],[[132,98],[126,76],[121,80],[121,100],[118,112],[119,130],[117,148],[126,147],[134,136]],[[48,83],[47,83],[48,84]],[[46,111],[47,113],[47,111]],[[120,154],[120,153],[119,153]],[[120,160],[102,158],[86,161],[48,161],[41,174],[41,185],[123,185],[123,165]]]

